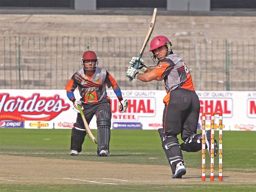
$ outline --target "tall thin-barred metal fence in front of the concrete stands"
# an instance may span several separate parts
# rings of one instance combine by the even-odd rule
[[[84,51],[99,57],[99,67],[114,76],[121,89],[164,90],[164,82],[143,83],[125,77],[131,56],[144,38],[0,36],[0,89],[64,89],[81,68]],[[255,91],[255,40],[172,39],[172,50],[191,71],[196,90]],[[149,46],[143,54],[154,65]]]

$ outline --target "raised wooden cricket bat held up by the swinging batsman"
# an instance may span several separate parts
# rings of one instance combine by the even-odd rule
[[[152,32],[153,32],[153,29],[154,29],[154,27],[155,27],[155,23],[156,23],[156,12],[157,12],[157,8],[154,9],[154,12],[153,12],[153,15],[152,15],[152,19],[151,19],[151,22],[150,22],[150,25],[149,25],[149,28],[148,28],[148,33],[147,33],[147,35],[146,35],[146,37],[145,37],[145,40],[144,40],[144,42],[143,42],[143,44],[142,44],[142,47],[141,47],[141,50],[140,50],[140,54],[139,54],[139,56],[138,56],[139,58],[142,57],[143,52],[144,52],[144,50],[145,50],[145,48],[146,48],[146,46],[147,46],[147,44],[148,44],[148,40],[149,40],[149,38],[150,38],[150,36],[151,36],[151,34],[152,34]],[[136,64],[135,64],[135,66],[134,66],[134,68],[137,69],[138,66],[139,66],[139,64],[140,64],[140,62],[137,61]],[[129,81],[132,81],[132,79],[133,79],[133,78],[130,77],[130,78],[129,78]]]

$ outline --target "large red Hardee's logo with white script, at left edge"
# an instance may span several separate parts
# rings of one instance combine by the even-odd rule
[[[49,121],[69,107],[57,94],[53,97],[40,97],[40,93],[34,93],[24,98],[0,93],[0,120]]]

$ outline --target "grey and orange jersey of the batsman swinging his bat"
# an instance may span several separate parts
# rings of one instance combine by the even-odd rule
[[[167,95],[164,97],[165,104],[169,103],[170,92],[176,88],[195,91],[188,67],[176,54],[168,55],[152,71],[164,79],[165,91],[167,92]]]

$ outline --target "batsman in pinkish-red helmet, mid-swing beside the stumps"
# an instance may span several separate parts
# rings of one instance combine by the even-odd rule
[[[172,43],[165,36],[156,36],[150,42],[149,52],[156,64],[153,70],[145,66],[145,61],[132,57],[126,73],[143,82],[163,81],[167,95],[164,97],[163,128],[158,129],[162,147],[172,169],[172,178],[182,178],[186,174],[182,150],[197,152],[201,150],[202,134],[196,133],[200,103],[195,92],[192,77],[186,63],[172,52]],[[139,73],[134,68],[139,61]],[[179,143],[177,135],[183,143]],[[211,132],[206,132],[206,144],[210,154]],[[217,155],[217,141],[214,140],[214,156]]]

